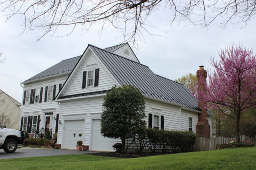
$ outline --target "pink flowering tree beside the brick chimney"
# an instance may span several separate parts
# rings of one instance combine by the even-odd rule
[[[236,141],[240,142],[240,118],[256,106],[256,55],[243,46],[231,45],[221,49],[219,58],[210,61],[213,70],[204,100],[221,114],[236,119]]]

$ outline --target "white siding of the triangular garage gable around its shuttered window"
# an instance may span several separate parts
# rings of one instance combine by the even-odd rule
[[[89,53],[89,52],[88,52]],[[75,68],[75,72],[73,73],[71,79],[68,81],[68,84],[64,87],[64,92],[61,94],[70,95],[70,94],[78,94],[78,93],[87,93],[87,92],[94,92],[94,91],[101,91],[101,90],[109,90],[115,84],[118,84],[116,80],[111,76],[110,72],[103,66],[100,62],[100,59],[96,57],[94,54],[90,53],[85,54],[82,57],[82,63],[79,65],[79,68]],[[93,77],[93,86],[87,87],[82,89],[82,75],[83,71],[94,70],[96,68],[100,68],[99,73],[99,86],[94,87],[94,77]],[[94,73],[95,74],[95,73]]]

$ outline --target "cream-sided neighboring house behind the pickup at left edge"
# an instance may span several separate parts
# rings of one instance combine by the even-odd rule
[[[9,128],[19,129],[20,106],[17,100],[0,90],[0,115],[10,119]]]

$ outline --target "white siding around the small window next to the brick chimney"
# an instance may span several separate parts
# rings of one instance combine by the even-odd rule
[[[190,110],[182,109],[182,130],[188,130],[189,128],[189,118],[192,118],[192,130],[195,132],[195,125],[198,122],[198,113]]]

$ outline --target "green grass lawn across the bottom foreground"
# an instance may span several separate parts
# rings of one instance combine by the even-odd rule
[[[86,154],[5,159],[0,170],[256,170],[256,147],[132,159]]]

